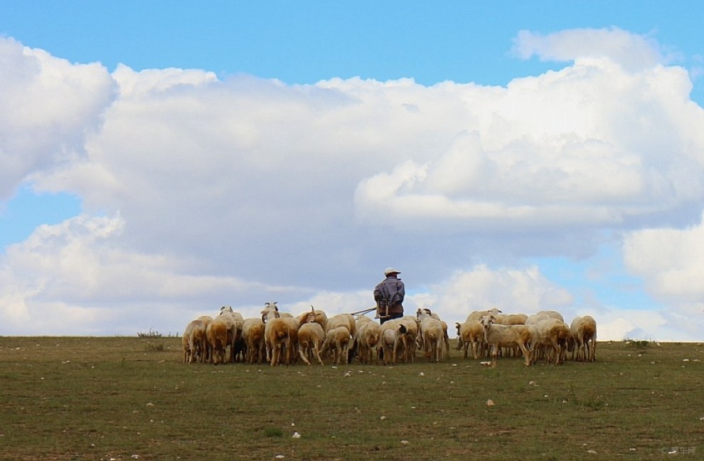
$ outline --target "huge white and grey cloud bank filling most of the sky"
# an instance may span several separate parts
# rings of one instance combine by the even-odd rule
[[[0,38],[0,200],[31,184],[83,207],[0,254],[4,334],[178,332],[273,300],[349,312],[395,265],[407,312],[553,308],[594,314],[602,339],[699,340],[704,111],[687,71],[619,29],[524,31],[514,50],[566,65],[506,87],[286,85],[111,73]],[[661,312],[577,304],[529,262],[588,258],[604,235]]]

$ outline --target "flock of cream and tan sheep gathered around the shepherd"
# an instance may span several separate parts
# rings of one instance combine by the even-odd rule
[[[416,351],[439,362],[449,357],[447,323],[430,309],[418,309],[415,317],[391,319],[383,324],[364,315],[337,314],[328,317],[319,309],[298,316],[279,312],[276,302],[267,302],[260,318],[242,318],[232,307],[223,307],[215,317],[198,317],[183,331],[183,361],[225,364],[246,362],[291,365],[398,364],[415,360]],[[561,364],[572,359],[594,361],[597,324],[590,316],[565,323],[555,311],[538,314],[503,314],[498,309],[475,311],[457,327],[457,349],[464,358],[496,366],[498,356],[523,356],[526,366],[545,360]]]

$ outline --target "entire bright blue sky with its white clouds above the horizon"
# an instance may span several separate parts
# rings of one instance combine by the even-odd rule
[[[671,280],[697,280],[692,263],[675,255],[699,249],[673,242],[696,240],[690,235],[704,203],[695,134],[704,102],[698,3],[0,0],[0,9],[0,37],[48,53],[38,58],[41,81],[58,82],[23,107],[75,104],[66,113],[81,115],[63,120],[57,110],[48,125],[30,117],[0,132],[4,162],[34,159],[0,189],[0,280],[12,287],[0,302],[16,319],[9,334],[176,332],[220,304],[256,314],[279,296],[292,310],[311,302],[358,310],[381,269],[403,265],[414,296],[408,309],[432,305],[452,321],[495,304],[554,307],[565,317],[594,314],[614,339],[701,339],[676,323],[701,313],[704,287]],[[18,75],[28,70],[16,49],[7,50],[0,101],[33,95],[36,86],[22,89]],[[629,68],[624,55],[639,53],[645,58]],[[604,56],[624,71],[590,61]],[[656,65],[665,71],[651,71]],[[621,105],[593,96],[608,81],[599,73],[622,79],[614,90]],[[159,99],[166,92],[169,109]],[[220,107],[211,92],[230,105],[251,98],[255,120]],[[589,117],[572,101],[582,95],[592,95],[582,102]],[[683,98],[694,106],[688,122],[671,106]],[[419,124],[394,112],[397,100],[428,118]],[[575,112],[555,117],[562,102]],[[13,120],[11,109],[0,108],[7,117],[0,120]],[[650,125],[639,114],[651,109],[646,122],[679,127],[678,134],[641,141]],[[286,110],[301,112],[288,118],[279,112]],[[614,113],[622,114],[615,123]],[[545,133],[533,116],[545,120]],[[509,122],[492,124],[501,117]],[[565,119],[574,122],[553,128]],[[41,126],[61,128],[43,139]],[[351,127],[359,128],[346,134]],[[505,145],[496,137],[502,129]],[[183,137],[160,147],[155,133]],[[545,154],[571,137],[579,142],[558,151],[582,153]],[[26,139],[39,140],[28,148]],[[662,154],[671,146],[671,157]],[[486,184],[470,174],[483,161],[503,171]],[[637,174],[620,170],[634,164],[642,166]],[[455,178],[459,171],[466,175]],[[469,189],[467,181],[475,181]],[[385,184],[396,186],[385,191]],[[316,188],[323,193],[309,192]],[[208,233],[199,220],[220,230]],[[291,230],[308,226],[319,230]],[[671,253],[655,254],[663,242]],[[65,272],[73,258],[91,264],[82,277]],[[149,270],[132,280],[124,267],[134,264]],[[32,282],[34,271],[41,282]],[[189,287],[186,295],[177,285]],[[73,326],[27,324],[38,306],[64,312]],[[149,319],[135,317],[140,306],[149,306]],[[159,313],[170,306],[174,315],[164,322]]]

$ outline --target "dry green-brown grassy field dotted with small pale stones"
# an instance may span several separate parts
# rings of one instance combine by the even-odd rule
[[[186,365],[180,342],[0,337],[0,459],[704,459],[697,344],[272,369]]]

